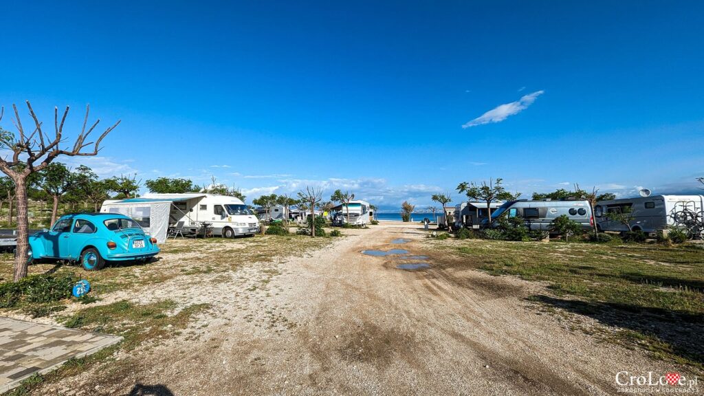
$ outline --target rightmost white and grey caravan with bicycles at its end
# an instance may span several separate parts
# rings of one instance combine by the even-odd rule
[[[668,227],[677,227],[690,237],[703,237],[704,195],[653,195],[626,199],[599,201],[594,207],[596,226],[603,231],[628,231],[619,221],[608,218],[612,212],[629,212],[634,231],[655,233]]]

